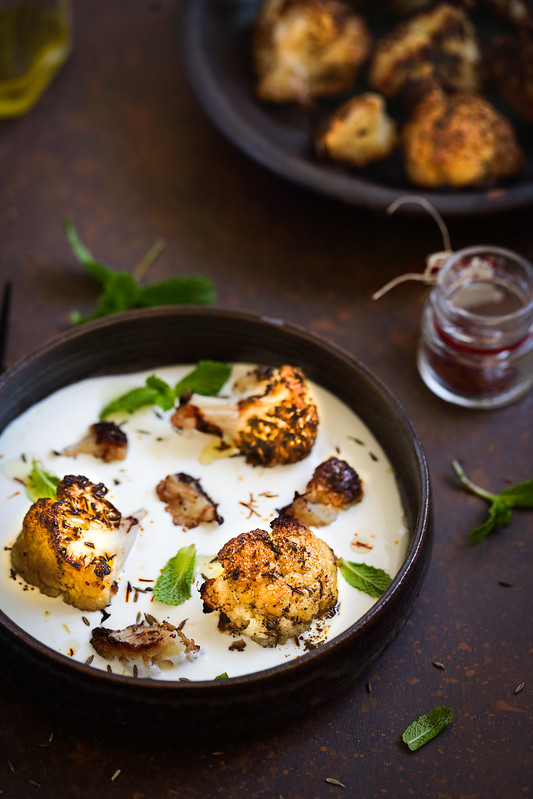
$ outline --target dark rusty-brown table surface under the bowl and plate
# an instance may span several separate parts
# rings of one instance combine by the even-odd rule
[[[220,308],[301,325],[388,384],[428,456],[435,546],[411,619],[348,693],[246,741],[231,740],[230,719],[221,719],[209,746],[185,746],[168,730],[117,732],[106,718],[88,723],[60,697],[34,701],[4,656],[3,795],[533,795],[533,517],[516,512],[507,529],[469,545],[466,534],[486,507],[458,487],[450,466],[459,458],[494,490],[532,477],[533,396],[492,412],[442,402],[415,367],[424,289],[406,284],[371,299],[440,249],[436,227],[309,195],[247,160],[190,92],[175,2],[77,0],[75,39],[39,104],[0,124],[1,277],[13,282],[8,361],[68,328],[71,310],[94,307],[98,289],[66,243],[66,217],[99,258],[122,269],[162,238],[154,279],[206,275]],[[533,258],[532,223],[532,209],[524,209],[451,220],[450,230],[456,249],[493,243]],[[450,705],[455,721],[409,752],[402,731],[436,704]]]

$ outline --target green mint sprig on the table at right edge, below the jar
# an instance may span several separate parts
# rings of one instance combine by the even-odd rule
[[[507,527],[511,521],[513,508],[533,508],[533,480],[517,483],[504,488],[499,494],[492,494],[472,482],[466,476],[459,461],[453,460],[452,467],[465,488],[489,503],[486,521],[468,533],[468,538],[473,543],[478,544],[480,541],[484,541],[496,527]]]

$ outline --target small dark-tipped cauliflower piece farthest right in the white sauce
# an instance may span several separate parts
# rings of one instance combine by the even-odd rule
[[[332,457],[316,467],[305,492],[296,492],[283,513],[303,524],[322,527],[362,498],[363,486],[357,472],[346,461]]]

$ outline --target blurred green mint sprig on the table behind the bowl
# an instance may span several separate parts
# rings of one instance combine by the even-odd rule
[[[66,219],[64,224],[67,240],[75,256],[103,288],[96,310],[86,316],[73,311],[71,314],[73,324],[89,322],[130,308],[156,305],[213,305],[215,302],[213,284],[201,275],[180,275],[145,286],[140,284],[141,278],[163,249],[161,242],[156,242],[151,248],[135,274],[121,272],[93,257],[81,242],[71,219]]]

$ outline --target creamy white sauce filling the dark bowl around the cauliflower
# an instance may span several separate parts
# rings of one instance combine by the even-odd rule
[[[191,368],[190,365],[165,367],[158,368],[155,373],[175,385]],[[246,368],[236,365],[231,382]],[[104,405],[143,385],[152,373],[92,378],[67,386],[23,413],[0,436],[0,464],[3,465],[0,473],[0,607],[34,638],[65,657],[81,662],[93,655],[92,665],[100,669],[106,669],[108,662],[98,656],[90,644],[94,627],[103,624],[120,629],[134,624],[139,612],[141,615],[148,613],[158,621],[167,619],[175,625],[186,619],[184,632],[200,645],[201,653],[194,660],[184,660],[163,670],[159,678],[165,680],[209,680],[224,672],[233,677],[301,656],[306,651],[304,639],[309,634],[302,637],[300,646],[289,641],[268,649],[240,636],[246,641],[244,651],[231,651],[229,647],[236,639],[217,629],[218,613],[203,613],[200,574],[192,586],[191,598],[177,607],[153,600],[151,592],[128,592],[128,583],[139,588],[153,586],[167,560],[188,544],[196,545],[198,556],[211,558],[239,533],[256,528],[269,530],[270,521],[278,515],[277,509],[287,505],[295,491],[302,492],[315,467],[332,455],[346,460],[358,472],[363,481],[363,499],[339,513],[332,524],[314,532],[327,541],[338,557],[368,563],[394,576],[405,558],[408,530],[390,463],[356,414],[316,384],[311,384],[311,391],[318,407],[319,432],[311,454],[297,464],[253,467],[239,456],[202,465],[200,454],[212,437],[197,431],[176,432],[170,425],[172,411],[163,412],[159,408],[145,408],[131,415],[114,417],[128,436],[128,454],[124,461],[103,463],[91,455],[69,458],[54,454],[81,440],[89,425],[98,420]],[[16,579],[10,576],[9,549],[31,505],[24,488],[13,480],[13,461],[23,453],[26,458],[39,459],[48,472],[58,477],[80,474],[92,482],[104,483],[109,489],[107,498],[123,516],[135,514],[141,508],[147,511],[119,578],[118,593],[107,608],[110,618],[105,622],[102,622],[101,611],[80,611],[66,605],[60,597],[41,594],[38,588],[27,585],[19,576]],[[204,523],[196,529],[185,530],[172,523],[164,503],[157,498],[155,487],[168,474],[176,472],[186,472],[201,480],[204,491],[218,503],[223,524]],[[338,612],[325,624],[322,622],[321,627],[325,627],[322,639],[330,639],[345,630],[376,601],[348,585],[340,572],[338,585]],[[83,617],[89,620],[90,626]],[[316,634],[310,640],[316,640]],[[131,667],[119,661],[112,661],[111,667],[116,673],[131,674]]]

